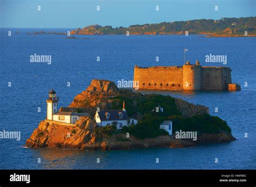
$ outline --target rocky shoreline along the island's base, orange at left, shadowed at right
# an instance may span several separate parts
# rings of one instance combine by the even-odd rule
[[[227,142],[235,140],[231,134],[225,133],[204,134],[199,136],[197,141],[176,139],[174,135],[137,139],[133,135],[127,138],[126,134],[122,133],[99,137],[95,131],[93,131],[96,127],[97,124],[88,117],[83,117],[77,121],[76,125],[70,126],[49,123],[49,121],[43,120],[30,138],[26,140],[26,147],[82,150],[113,150],[149,147],[183,148],[198,146],[207,142]]]

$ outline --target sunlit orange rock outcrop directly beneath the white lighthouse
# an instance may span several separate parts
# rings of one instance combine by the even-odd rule
[[[96,127],[96,122],[89,117],[80,118],[75,125],[60,125],[55,121],[43,120],[26,140],[26,146],[83,149],[86,144],[96,142]]]

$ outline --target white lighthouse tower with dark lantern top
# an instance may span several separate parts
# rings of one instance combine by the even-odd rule
[[[53,120],[53,113],[57,112],[57,103],[59,97],[56,97],[56,92],[51,89],[49,91],[49,99],[46,100],[47,103],[47,114],[46,119]]]

